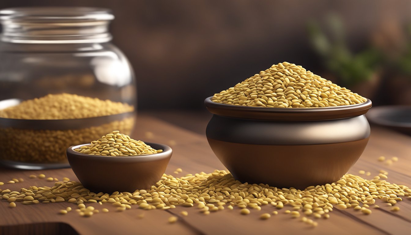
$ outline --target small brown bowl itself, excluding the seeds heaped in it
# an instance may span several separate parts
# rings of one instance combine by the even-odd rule
[[[74,151],[88,145],[81,144],[67,149],[67,160],[74,174],[90,191],[113,193],[150,189],[163,176],[173,151],[164,144],[145,143],[163,151],[138,156],[99,156]]]

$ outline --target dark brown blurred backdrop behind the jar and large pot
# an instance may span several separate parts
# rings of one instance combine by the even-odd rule
[[[411,1],[0,1],[23,6],[112,9],[139,109],[204,109],[206,97],[283,61],[374,105],[411,104]]]

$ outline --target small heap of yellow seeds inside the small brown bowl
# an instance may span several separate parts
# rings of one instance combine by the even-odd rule
[[[157,154],[163,150],[153,149],[141,140],[133,140],[128,135],[115,130],[102,136],[91,144],[74,149],[82,154],[94,154],[102,156],[136,156],[141,154]]]

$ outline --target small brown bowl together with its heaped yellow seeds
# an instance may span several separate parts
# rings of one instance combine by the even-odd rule
[[[136,141],[118,131],[67,149],[67,160],[80,182],[104,193],[149,189],[161,179],[171,155],[166,145]]]

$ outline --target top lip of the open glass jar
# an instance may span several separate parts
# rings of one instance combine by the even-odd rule
[[[1,20],[112,20],[110,9],[99,7],[13,7],[0,10]]]

